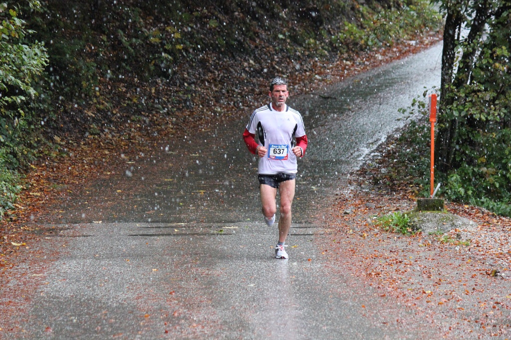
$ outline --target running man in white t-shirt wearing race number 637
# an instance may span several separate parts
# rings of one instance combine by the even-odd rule
[[[278,219],[275,257],[288,258],[284,242],[291,228],[291,204],[298,171],[296,160],[305,155],[307,136],[300,113],[286,105],[289,96],[287,81],[280,77],[273,79],[268,95],[271,103],[252,113],[243,139],[248,150],[259,156],[259,189],[264,220],[268,226],[275,222],[277,190],[280,193],[281,216]],[[256,134],[259,143],[255,141]]]

